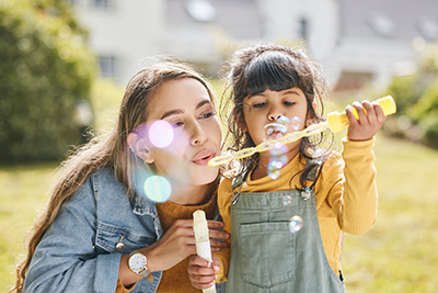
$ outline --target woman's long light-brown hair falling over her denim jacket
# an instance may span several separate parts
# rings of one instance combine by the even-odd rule
[[[140,70],[128,82],[122,100],[118,121],[106,138],[92,139],[61,164],[59,178],[53,187],[49,201],[27,234],[25,258],[16,267],[16,283],[10,292],[22,292],[36,246],[54,222],[62,204],[74,196],[74,192],[91,173],[107,167],[114,171],[117,180],[128,188],[128,195],[132,194],[135,180],[132,174],[136,170],[145,169],[145,162],[129,149],[127,136],[147,121],[148,105],[153,92],[165,81],[183,78],[194,78],[203,83],[214,102],[208,83],[189,66],[175,61],[152,65]],[[217,184],[217,182],[216,180],[211,184]]]

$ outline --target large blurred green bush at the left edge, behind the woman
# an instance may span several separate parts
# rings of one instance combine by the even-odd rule
[[[95,72],[66,1],[0,3],[0,162],[57,160],[80,138]]]

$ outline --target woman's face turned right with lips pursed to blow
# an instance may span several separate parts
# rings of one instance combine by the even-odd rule
[[[147,124],[158,120],[169,122],[174,138],[163,148],[146,139],[148,162],[176,184],[212,182],[219,167],[210,167],[207,162],[220,154],[221,128],[207,89],[194,78],[183,78],[164,82],[151,99]]]

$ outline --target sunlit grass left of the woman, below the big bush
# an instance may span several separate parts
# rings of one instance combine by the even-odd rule
[[[1,292],[5,292],[13,284],[14,267],[23,253],[23,237],[55,182],[56,167],[56,164],[45,164],[0,168]]]

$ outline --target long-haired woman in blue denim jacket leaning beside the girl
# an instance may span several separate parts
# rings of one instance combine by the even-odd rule
[[[189,67],[168,61],[139,71],[107,138],[89,143],[60,169],[14,290],[200,292],[187,263],[196,253],[193,212],[214,218],[217,211],[218,168],[207,166],[220,151],[215,113],[208,84]],[[171,125],[173,140],[152,144],[166,138],[153,134],[155,122]],[[222,226],[209,221],[210,228]],[[210,236],[228,237],[216,229]],[[211,240],[212,250],[223,244]]]

